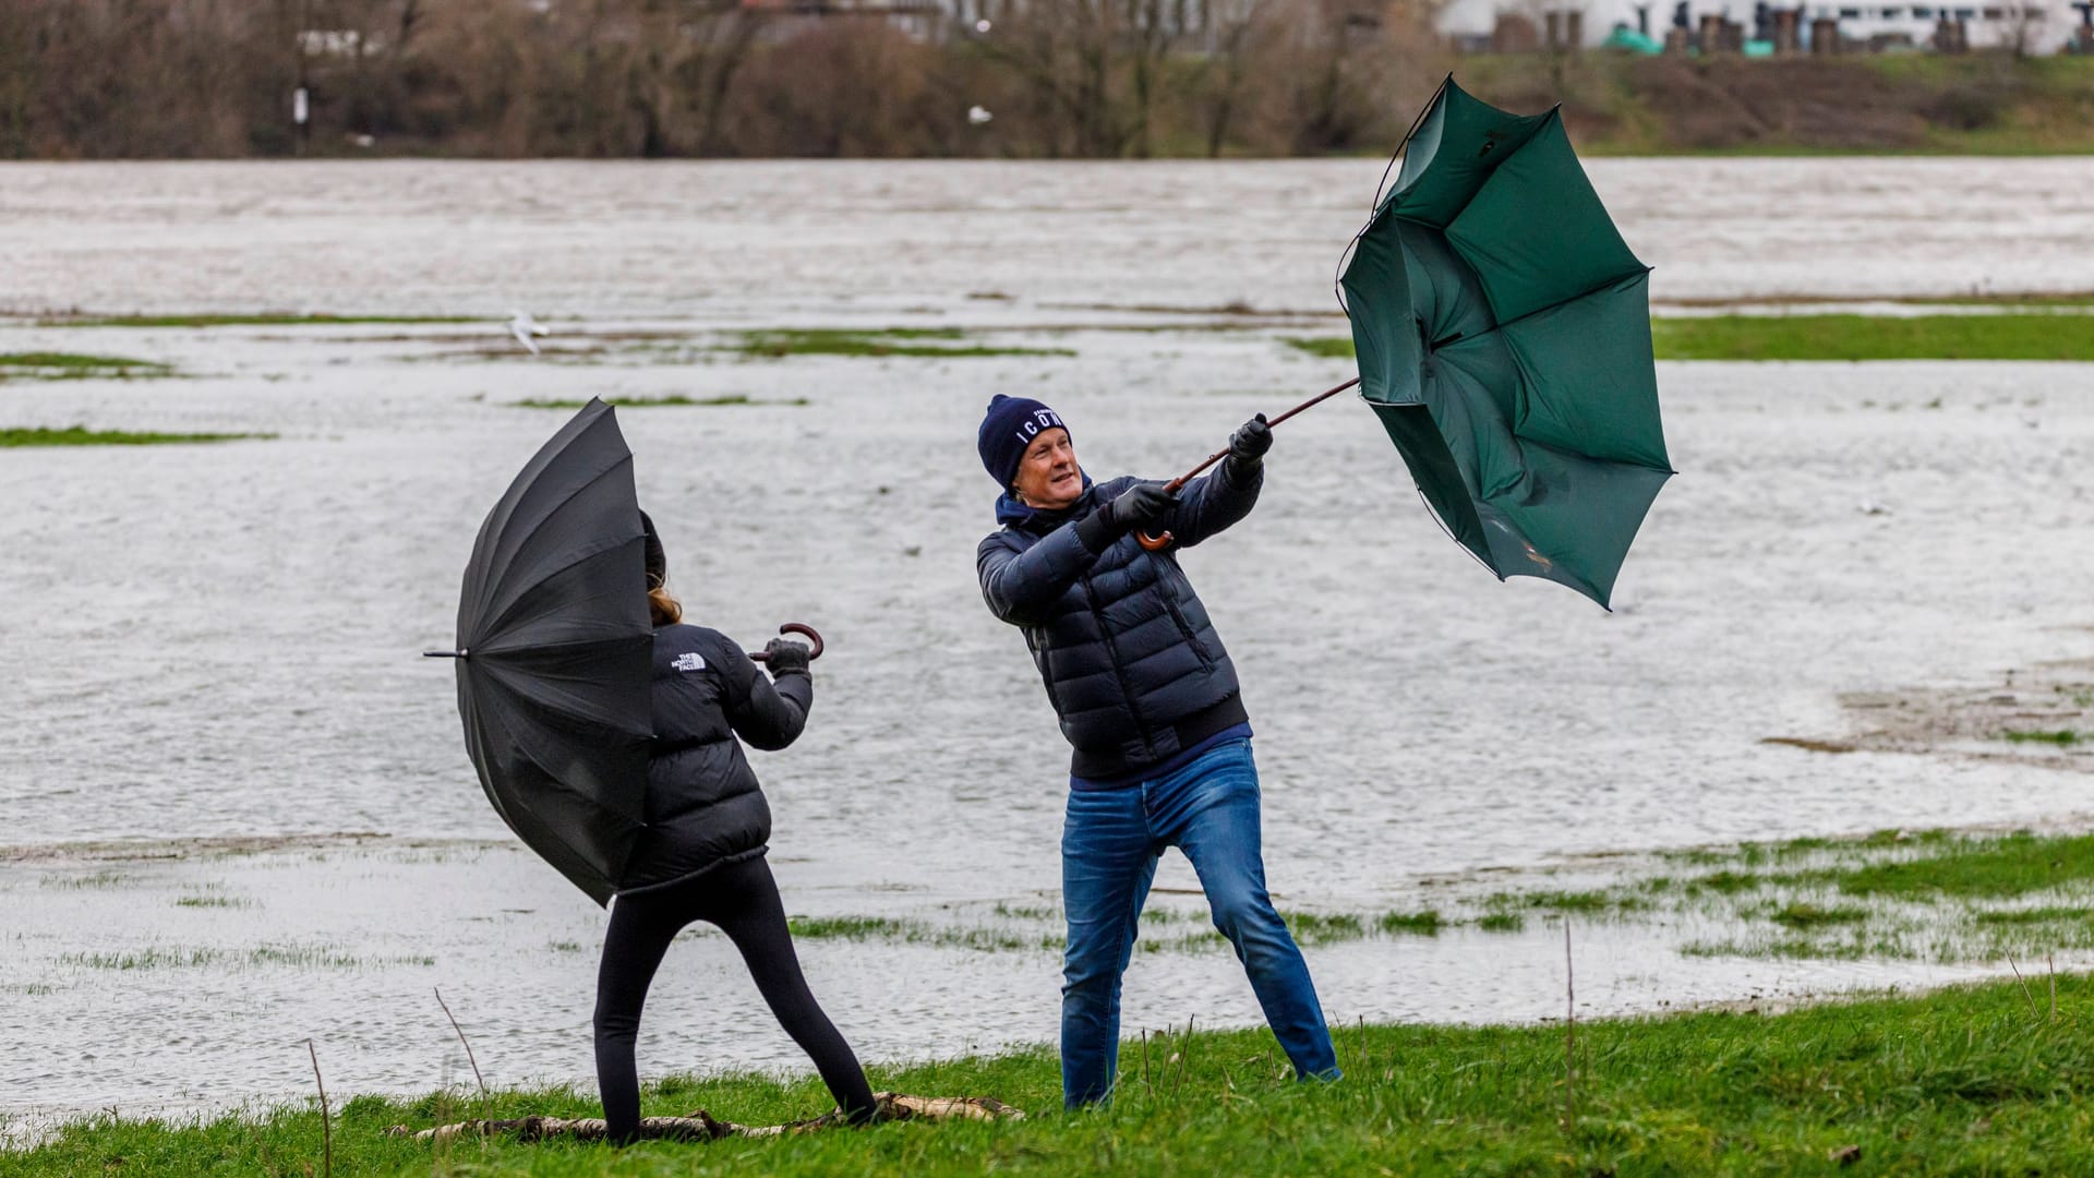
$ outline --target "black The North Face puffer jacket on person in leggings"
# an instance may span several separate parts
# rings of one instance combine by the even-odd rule
[[[647,761],[647,830],[620,893],[691,878],[764,853],[771,805],[741,744],[785,748],[815,706],[804,673],[777,683],[718,631],[655,629],[653,729]]]

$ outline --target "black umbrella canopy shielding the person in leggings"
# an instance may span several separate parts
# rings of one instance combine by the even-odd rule
[[[591,400],[488,511],[459,599],[459,715],[488,801],[609,903],[641,832],[653,627],[632,451]]]

